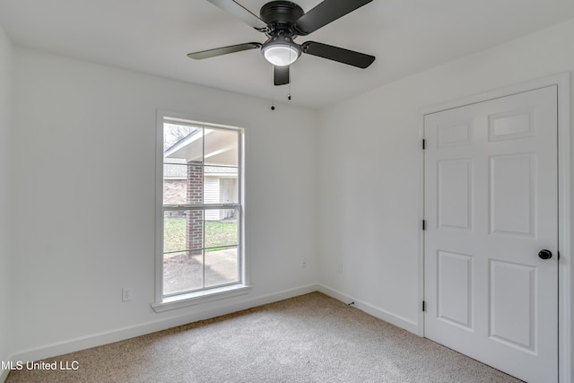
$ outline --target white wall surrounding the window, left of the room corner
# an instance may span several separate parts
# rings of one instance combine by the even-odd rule
[[[248,295],[150,307],[156,109],[246,128]],[[316,111],[14,48],[12,147],[16,355],[114,341],[317,282]],[[133,300],[122,302],[124,286]]]

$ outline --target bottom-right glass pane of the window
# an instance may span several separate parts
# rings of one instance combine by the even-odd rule
[[[237,247],[205,250],[205,287],[239,282]]]

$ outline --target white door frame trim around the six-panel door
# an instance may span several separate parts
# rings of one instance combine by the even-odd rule
[[[558,364],[559,381],[561,383],[574,382],[574,372],[571,358],[574,357],[574,341],[571,330],[571,309],[573,295],[570,291],[571,281],[574,280],[574,266],[572,265],[570,235],[571,213],[570,206],[574,198],[570,196],[570,72],[554,74],[527,83],[510,85],[495,91],[488,91],[459,100],[451,100],[423,108],[419,111],[419,138],[424,138],[424,117],[448,109],[464,107],[466,105],[511,96],[524,91],[534,91],[539,88],[557,85],[558,87],[558,249],[560,262],[558,264]],[[421,146],[422,147],[422,146]],[[419,222],[424,219],[424,151],[420,151],[419,159]],[[422,225],[421,225],[422,226]],[[418,304],[424,300],[424,232],[419,231],[418,236]],[[417,335],[424,336],[424,313],[418,310]]]

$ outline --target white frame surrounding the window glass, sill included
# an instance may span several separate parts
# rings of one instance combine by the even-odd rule
[[[238,187],[239,202],[233,207],[239,208],[238,219],[238,257],[239,257],[239,283],[205,288],[195,292],[182,292],[179,294],[163,294],[163,124],[166,120],[193,124],[194,126],[215,127],[218,129],[229,129],[239,133],[239,162],[238,162]],[[179,309],[196,305],[212,300],[244,295],[251,289],[248,283],[247,257],[245,254],[245,187],[244,187],[244,146],[245,131],[239,126],[219,125],[207,122],[200,122],[180,113],[170,111],[157,111],[157,135],[156,135],[156,163],[155,163],[155,301],[152,309],[156,312]],[[226,204],[204,204],[203,207],[222,208],[230,206]],[[194,206],[196,208],[196,206]]]

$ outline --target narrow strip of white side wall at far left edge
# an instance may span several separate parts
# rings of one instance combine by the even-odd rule
[[[0,361],[11,355],[10,339],[10,152],[12,45],[0,26]],[[0,370],[0,379],[2,371]]]

